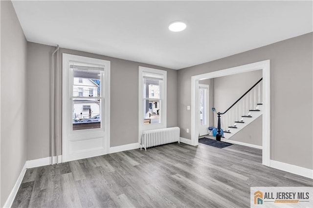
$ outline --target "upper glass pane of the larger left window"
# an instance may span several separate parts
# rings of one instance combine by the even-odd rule
[[[82,66],[71,66],[74,67],[73,96],[100,97],[100,70],[87,70],[79,68]]]

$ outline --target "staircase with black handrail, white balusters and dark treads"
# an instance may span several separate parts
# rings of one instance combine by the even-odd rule
[[[262,78],[223,113],[218,112],[216,140],[226,141],[262,115]],[[220,128],[224,135],[220,133]]]

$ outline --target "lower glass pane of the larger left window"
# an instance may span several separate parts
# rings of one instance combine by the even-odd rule
[[[73,99],[73,130],[101,128],[101,99]]]

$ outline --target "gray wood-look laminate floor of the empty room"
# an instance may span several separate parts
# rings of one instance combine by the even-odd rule
[[[27,169],[12,207],[250,207],[250,187],[313,186],[262,151],[170,144]]]

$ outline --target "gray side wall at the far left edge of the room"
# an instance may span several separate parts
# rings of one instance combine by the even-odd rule
[[[3,207],[26,162],[26,47],[11,1],[1,4],[1,200]]]

